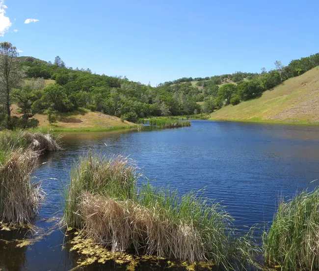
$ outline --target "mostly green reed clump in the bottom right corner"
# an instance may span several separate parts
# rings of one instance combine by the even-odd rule
[[[281,202],[263,239],[267,265],[319,270],[319,188]]]

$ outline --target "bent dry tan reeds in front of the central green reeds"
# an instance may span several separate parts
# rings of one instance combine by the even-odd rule
[[[113,252],[134,249],[137,254],[206,261],[206,241],[194,224],[173,223],[158,211],[131,200],[118,201],[88,192],[83,193],[81,202],[90,237]]]

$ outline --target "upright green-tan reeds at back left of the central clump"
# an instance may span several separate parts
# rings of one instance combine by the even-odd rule
[[[82,227],[83,219],[79,212],[83,191],[114,198],[131,198],[138,177],[135,165],[128,157],[81,156],[71,169],[70,184],[65,191],[64,222],[70,227]]]

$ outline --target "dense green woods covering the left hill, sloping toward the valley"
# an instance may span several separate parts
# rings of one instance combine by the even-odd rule
[[[148,116],[200,113],[196,98],[190,98],[198,91],[191,92],[188,86],[179,86],[181,91],[167,91],[129,81],[126,77],[92,74],[89,69],[66,68],[61,62],[59,58],[56,58],[55,64],[33,58],[21,61],[28,78],[55,80],[55,84],[30,94],[37,99],[28,99],[32,104],[29,115],[44,113],[47,109],[70,112],[81,107],[135,122]]]

